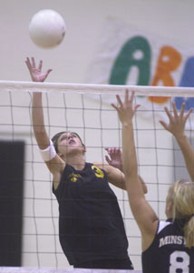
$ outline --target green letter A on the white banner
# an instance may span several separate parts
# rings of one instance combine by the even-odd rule
[[[137,56],[139,53],[140,56]],[[150,83],[150,44],[142,36],[135,36],[128,40],[121,48],[113,66],[110,85],[126,85],[131,67],[139,70],[138,86],[149,86]]]

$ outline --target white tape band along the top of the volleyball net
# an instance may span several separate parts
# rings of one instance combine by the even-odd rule
[[[1,91],[65,92],[84,94],[123,94],[125,89],[134,90],[137,96],[194,96],[194,87],[171,86],[115,86],[92,84],[33,83],[20,81],[0,81]]]

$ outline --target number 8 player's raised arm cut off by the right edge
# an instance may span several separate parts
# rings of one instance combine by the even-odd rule
[[[185,103],[183,103],[178,113],[174,102],[172,103],[172,108],[173,115],[167,107],[164,107],[167,116],[169,116],[169,124],[162,120],[160,120],[160,124],[176,138],[185,159],[190,179],[194,181],[194,151],[190,146],[188,137],[185,135],[185,124],[192,112],[192,108],[185,113]]]

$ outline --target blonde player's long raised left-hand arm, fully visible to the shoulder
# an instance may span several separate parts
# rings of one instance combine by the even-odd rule
[[[128,90],[122,103],[121,97],[117,96],[119,106],[112,104],[117,110],[122,124],[122,155],[125,183],[128,191],[131,211],[135,217],[142,234],[142,248],[146,249],[154,238],[158,217],[145,199],[138,176],[138,162],[134,144],[132,119],[139,105],[133,106],[134,92],[129,97]]]

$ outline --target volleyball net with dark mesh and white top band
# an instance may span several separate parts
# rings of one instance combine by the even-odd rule
[[[194,88],[0,81],[0,170],[3,174],[0,175],[3,223],[0,238],[5,244],[0,250],[0,266],[4,267],[1,272],[11,272],[12,256],[16,265],[19,259],[21,272],[26,267],[42,268],[42,271],[55,268],[51,272],[59,268],[67,268],[63,272],[73,270],[68,268],[59,244],[58,204],[52,193],[52,177],[34,139],[32,93],[44,93],[44,123],[50,137],[59,131],[75,131],[87,147],[86,161],[106,163],[105,148],[121,148],[121,124],[111,103],[116,102],[116,94],[123,96],[126,88],[135,91],[136,103],[141,104],[134,118],[139,173],[148,187],[151,207],[163,219],[170,184],[180,177],[188,177],[188,173],[178,145],[159,120],[168,121],[163,107],[171,110],[172,101],[178,109],[183,101],[186,109],[194,106]],[[186,126],[191,142],[193,126],[191,114]],[[134,268],[141,270],[141,234],[131,215],[127,194],[116,187],[112,189],[121,207],[129,256]]]

